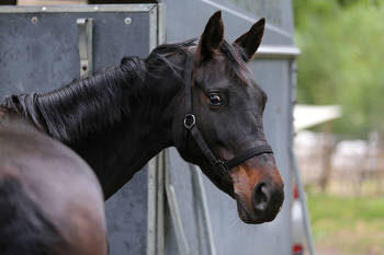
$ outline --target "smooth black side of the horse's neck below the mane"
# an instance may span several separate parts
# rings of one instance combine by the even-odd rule
[[[169,103],[170,94],[162,97],[163,94],[157,92],[166,83],[148,82],[153,90],[129,118],[72,146],[97,173],[105,198],[115,194],[162,149],[173,146],[171,126],[176,107]],[[177,91],[171,94],[174,96]]]

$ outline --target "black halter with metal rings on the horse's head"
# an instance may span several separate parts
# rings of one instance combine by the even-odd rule
[[[219,176],[228,175],[228,172],[235,166],[241,164],[246,160],[260,155],[263,153],[273,153],[272,148],[268,144],[258,146],[251,148],[239,155],[228,160],[226,162],[218,160],[210,147],[206,144],[202,134],[200,132],[196,126],[196,117],[193,115],[193,105],[192,105],[192,68],[193,68],[193,56],[189,55],[187,57],[185,65],[185,117],[184,117],[184,128],[187,132],[190,132],[197,143],[199,148],[202,150],[205,158],[211,163],[212,167],[216,171],[216,174]]]

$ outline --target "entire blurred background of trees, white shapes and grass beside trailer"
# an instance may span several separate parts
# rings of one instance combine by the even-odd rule
[[[293,0],[294,149],[316,253],[384,254],[384,1]]]

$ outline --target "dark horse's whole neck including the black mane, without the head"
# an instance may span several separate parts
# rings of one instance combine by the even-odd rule
[[[170,73],[145,70],[142,60],[122,62],[46,94],[5,100],[7,107],[78,152],[94,170],[106,198],[173,144],[174,102],[181,89]]]

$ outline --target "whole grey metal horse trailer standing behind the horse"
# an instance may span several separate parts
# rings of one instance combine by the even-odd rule
[[[249,66],[269,95],[264,130],[285,183],[282,211],[271,223],[241,223],[235,201],[169,149],[106,201],[112,255],[291,254],[290,148],[298,54],[291,9],[289,0],[0,8],[1,97],[58,88],[78,77],[84,63],[97,70],[123,56],[145,57],[162,42],[197,37],[216,10],[223,11],[228,40],[267,18],[263,43]]]

